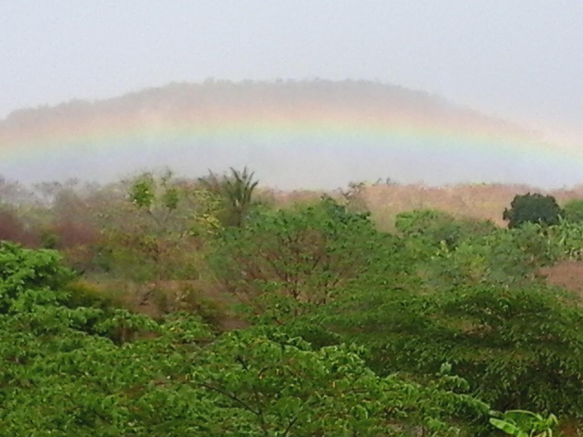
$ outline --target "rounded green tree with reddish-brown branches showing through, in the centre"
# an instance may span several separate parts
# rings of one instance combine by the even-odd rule
[[[211,261],[227,288],[257,311],[295,314],[330,302],[343,285],[373,269],[384,245],[388,239],[368,214],[324,199],[227,229]]]

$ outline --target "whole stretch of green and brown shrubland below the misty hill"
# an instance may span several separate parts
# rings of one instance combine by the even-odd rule
[[[508,228],[417,209],[385,232],[359,185],[282,206],[247,169],[43,187],[0,215],[3,435],[545,435],[583,420],[581,299],[540,274],[581,260],[576,205],[529,195],[500,211]]]

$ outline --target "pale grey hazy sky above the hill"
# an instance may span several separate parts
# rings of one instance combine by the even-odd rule
[[[377,79],[583,132],[583,1],[0,0],[0,118],[207,77]]]

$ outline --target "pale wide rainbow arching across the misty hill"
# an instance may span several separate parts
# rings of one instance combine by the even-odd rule
[[[221,154],[236,154],[243,146],[249,154],[261,145],[257,147],[262,153],[304,153],[308,160],[310,153],[325,150],[328,158],[336,156],[340,161],[349,149],[347,159],[354,159],[359,149],[363,157],[437,157],[452,163],[446,169],[452,174],[468,163],[478,170],[481,163],[505,163],[508,172],[512,163],[519,163],[525,174],[532,167],[533,177],[540,168],[572,175],[564,183],[578,182],[575,172],[583,168],[583,151],[578,147],[557,145],[455,107],[427,109],[394,104],[382,96],[351,100],[338,92],[327,100],[310,97],[309,92],[297,98],[293,93],[284,98],[273,92],[233,98],[224,97],[219,89],[215,96],[207,90],[205,100],[201,89],[195,91],[184,101],[177,101],[174,94],[164,100],[160,90],[154,97],[143,97],[145,103],[134,94],[15,114],[0,122],[0,173],[9,172],[7,168],[24,172],[29,165],[66,163],[72,156],[132,161],[147,151],[163,161],[205,147],[206,154],[212,153],[208,145]],[[346,164],[350,163],[343,167],[349,168]]]

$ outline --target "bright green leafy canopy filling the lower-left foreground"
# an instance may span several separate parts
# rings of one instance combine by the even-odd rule
[[[360,348],[273,327],[216,339],[188,313],[53,299],[0,314],[0,331],[4,435],[472,435],[488,411],[447,372],[381,378]]]

